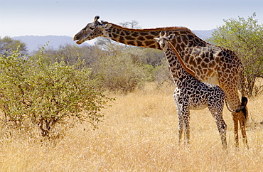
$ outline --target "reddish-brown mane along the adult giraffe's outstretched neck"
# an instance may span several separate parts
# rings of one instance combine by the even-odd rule
[[[122,27],[119,26],[117,24],[114,23],[109,23],[107,21],[103,21],[102,23],[104,24],[111,24],[112,26],[114,26],[114,28],[120,28],[122,30],[125,31],[174,31],[174,30],[186,30],[189,31],[190,33],[193,33],[193,31],[191,31],[189,28],[186,27],[182,27],[182,26],[173,26],[173,27],[163,27],[163,28],[126,28],[126,27]],[[195,35],[195,33],[193,33]]]

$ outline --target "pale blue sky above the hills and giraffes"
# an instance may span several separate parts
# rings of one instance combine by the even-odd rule
[[[112,23],[135,20],[142,28],[210,30],[253,12],[263,23],[262,0],[0,0],[0,36],[74,36],[97,15]]]

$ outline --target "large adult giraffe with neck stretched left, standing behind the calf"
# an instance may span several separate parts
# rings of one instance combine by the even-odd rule
[[[244,97],[243,88],[241,102],[238,94],[239,81],[245,82],[244,66],[235,53],[203,41],[185,27],[132,29],[107,21],[98,21],[99,18],[100,16],[95,16],[95,20],[82,28],[74,36],[73,41],[81,44],[102,36],[127,45],[161,50],[159,43],[154,40],[159,36],[160,31],[165,31],[168,35],[175,34],[171,43],[183,58],[186,67],[195,72],[198,80],[219,85],[225,91],[230,109],[236,109],[236,112],[232,112],[235,146],[239,147],[238,122],[240,122],[242,140],[248,148],[245,130],[247,98]]]

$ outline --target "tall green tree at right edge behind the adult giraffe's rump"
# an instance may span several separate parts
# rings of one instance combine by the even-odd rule
[[[224,20],[208,39],[211,43],[233,50],[245,65],[245,91],[249,97],[262,92],[262,85],[255,85],[263,77],[263,24],[255,19],[238,17]]]

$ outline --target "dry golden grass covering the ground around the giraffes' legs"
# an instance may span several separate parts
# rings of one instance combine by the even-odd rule
[[[263,96],[249,100],[249,150],[234,149],[232,118],[225,108],[228,152],[222,151],[208,109],[191,111],[190,150],[178,147],[173,88],[149,85],[116,96],[95,131],[89,124],[55,143],[14,134],[1,136],[0,171],[263,171]]]

